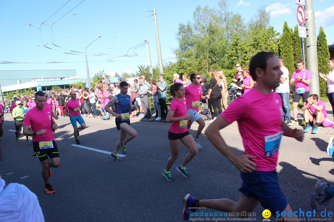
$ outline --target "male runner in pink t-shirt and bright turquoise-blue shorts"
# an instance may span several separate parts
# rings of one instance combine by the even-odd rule
[[[79,129],[86,128],[85,120],[83,120],[82,116],[83,110],[80,104],[80,100],[76,99],[76,93],[70,92],[69,93],[71,99],[66,103],[65,105],[65,115],[69,116],[69,120],[72,123],[73,129],[74,129],[74,138],[75,138],[75,144],[80,144],[80,141],[78,139],[79,136]],[[80,124],[78,127],[76,124],[76,121]]]

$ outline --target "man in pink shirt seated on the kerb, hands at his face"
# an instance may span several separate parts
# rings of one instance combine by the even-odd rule
[[[304,132],[308,132],[311,129],[310,121],[312,121],[313,118],[316,118],[316,123],[314,124],[312,133],[317,133],[318,126],[327,117],[325,103],[319,100],[317,94],[312,94],[309,98],[307,98],[307,104],[302,107],[302,111],[304,112],[304,119],[306,123]]]

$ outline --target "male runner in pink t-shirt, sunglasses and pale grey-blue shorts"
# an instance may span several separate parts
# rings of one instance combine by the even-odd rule
[[[202,96],[202,87],[200,86],[201,78],[199,77],[199,73],[192,73],[190,75],[191,84],[184,88],[185,91],[185,99],[186,99],[186,107],[187,107],[187,115],[191,115],[190,120],[188,121],[187,127],[190,129],[191,124],[193,122],[197,122],[199,124],[196,132],[196,136],[194,137],[197,149],[202,148],[201,144],[199,144],[198,137],[201,134],[205,122],[198,114],[199,111],[199,101],[205,100],[208,96]]]

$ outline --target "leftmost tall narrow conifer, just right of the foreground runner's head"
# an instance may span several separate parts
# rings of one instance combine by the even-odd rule
[[[295,60],[292,45],[292,29],[289,28],[288,23],[284,22],[283,33],[279,39],[278,50],[279,55],[284,59],[284,66],[289,70],[289,78],[291,78],[295,69]]]

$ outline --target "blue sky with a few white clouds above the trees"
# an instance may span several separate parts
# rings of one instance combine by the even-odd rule
[[[78,76],[85,78],[87,74],[83,52],[99,35],[101,38],[87,48],[91,77],[102,70],[113,76],[115,72],[129,73],[130,68],[134,73],[138,71],[138,65],[146,66],[147,51],[145,46],[141,46],[145,38],[149,39],[152,65],[155,66],[158,64],[158,56],[153,8],[157,12],[163,62],[175,62],[173,49],[178,46],[175,34],[179,23],[192,21],[197,5],[218,8],[218,2],[2,0],[0,61],[21,64],[0,64],[0,70],[74,69]],[[284,21],[288,22],[289,27],[297,25],[297,5],[294,0],[230,0],[228,4],[229,11],[239,13],[246,22],[257,8],[266,5],[267,11],[271,11],[271,25],[280,33]],[[333,43],[333,1],[314,0],[313,9],[316,34],[319,26],[323,26],[328,43]],[[51,49],[44,47],[43,43]],[[136,46],[141,47],[132,48]],[[64,53],[70,51],[75,52]]]

